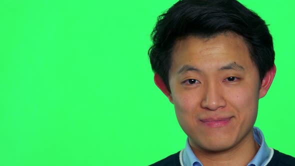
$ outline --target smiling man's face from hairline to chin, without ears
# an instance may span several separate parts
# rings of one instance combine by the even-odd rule
[[[195,149],[220,151],[252,137],[260,80],[235,33],[177,41],[169,71],[171,102]]]

